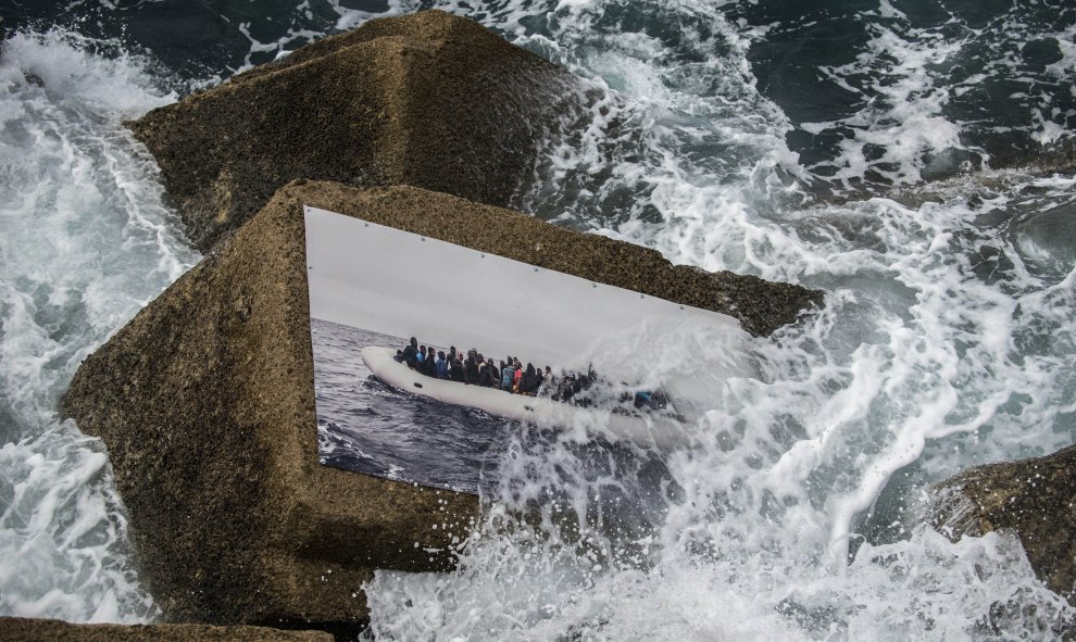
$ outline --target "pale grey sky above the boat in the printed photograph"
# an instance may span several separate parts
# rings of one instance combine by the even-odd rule
[[[304,207],[311,316],[503,358],[578,364],[597,339],[663,317],[742,335],[730,316]]]

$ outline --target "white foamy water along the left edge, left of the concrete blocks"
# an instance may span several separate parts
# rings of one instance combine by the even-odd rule
[[[0,612],[138,621],[103,446],[57,404],[79,362],[196,259],[125,118],[174,100],[146,63],[52,32],[0,58]]]

